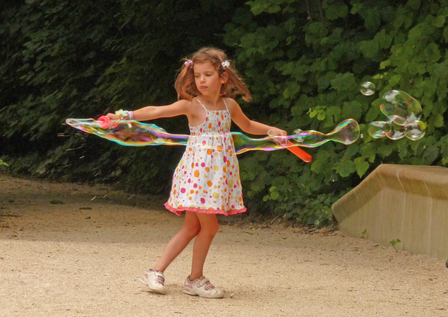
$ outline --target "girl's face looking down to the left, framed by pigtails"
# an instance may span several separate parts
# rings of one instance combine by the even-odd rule
[[[198,91],[203,96],[214,97],[216,94],[219,95],[221,85],[224,84],[227,79],[219,76],[218,71],[211,62],[194,63],[193,70],[196,87],[198,87]]]

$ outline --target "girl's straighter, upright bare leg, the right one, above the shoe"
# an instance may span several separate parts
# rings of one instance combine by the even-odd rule
[[[208,249],[219,229],[218,220],[214,213],[196,213],[196,216],[201,224],[201,230],[194,240],[190,280],[200,278],[203,275],[202,270]]]

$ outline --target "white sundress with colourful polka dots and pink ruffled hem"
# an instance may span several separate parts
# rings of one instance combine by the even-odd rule
[[[226,110],[209,111],[199,103],[206,118],[200,126],[190,126],[191,137],[172,177],[165,207],[177,215],[184,210],[226,216],[244,213],[227,104],[224,100]]]

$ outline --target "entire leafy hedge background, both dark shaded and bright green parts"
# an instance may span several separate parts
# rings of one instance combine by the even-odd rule
[[[212,45],[228,52],[253,100],[254,120],[331,131],[353,118],[364,138],[307,150],[239,156],[252,214],[332,225],[331,204],[381,163],[448,165],[448,1],[25,0],[2,1],[0,158],[13,174],[118,183],[167,195],[182,147],[123,147],[78,133],[65,119],[176,100],[181,58]],[[371,81],[374,96],[359,85]],[[372,139],[385,91],[421,101],[426,135]],[[187,133],[184,117],[155,120]],[[237,127],[233,127],[237,129]]]

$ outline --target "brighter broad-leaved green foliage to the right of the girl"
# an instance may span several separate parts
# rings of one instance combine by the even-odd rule
[[[307,149],[310,164],[286,152],[240,159],[246,204],[331,223],[330,205],[381,163],[448,165],[447,1],[257,0],[225,26],[238,69],[253,94],[250,117],[291,133],[330,132],[353,118],[363,139]],[[359,85],[371,81],[373,96]],[[401,89],[422,103],[426,136],[372,139],[366,124],[385,120],[379,97]],[[263,198],[263,199],[262,199]],[[264,204],[257,201],[263,200]],[[315,222],[317,221],[317,222]],[[321,221],[321,222],[319,222]]]

